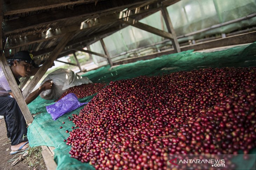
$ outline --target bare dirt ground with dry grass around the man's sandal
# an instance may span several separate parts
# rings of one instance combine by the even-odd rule
[[[16,159],[20,155],[10,155],[11,143],[9,143],[6,136],[6,127],[4,119],[0,119],[0,170],[46,170],[45,162],[41,154],[41,147],[34,147],[28,149],[28,156],[12,166],[11,159]],[[7,145],[4,145],[8,143]]]

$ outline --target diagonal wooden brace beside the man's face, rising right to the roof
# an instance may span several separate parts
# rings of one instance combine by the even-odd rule
[[[49,58],[45,61],[43,66],[39,68],[38,72],[34,75],[33,79],[28,83],[27,87],[24,89],[23,91],[24,98],[28,97],[28,95],[30,94],[29,91],[31,89],[34,89],[36,84],[40,81],[42,76],[46,73],[47,69],[53,64],[54,60],[58,57],[59,53],[68,43],[68,41],[73,36],[73,34],[74,32],[70,32],[61,39],[59,44],[55,47],[53,52],[50,54]]]

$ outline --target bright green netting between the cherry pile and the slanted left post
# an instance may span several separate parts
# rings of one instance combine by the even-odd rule
[[[94,95],[79,99],[79,101],[88,102],[93,96]],[[33,123],[28,127],[29,145],[31,147],[42,145],[55,147],[54,160],[58,164],[57,169],[59,170],[94,169],[92,165],[88,163],[81,163],[80,161],[71,158],[68,154],[70,146],[67,146],[66,142],[63,142],[63,140],[67,139],[69,136],[69,133],[66,133],[66,130],[72,131],[71,127],[74,126],[74,123],[69,121],[68,117],[72,117],[72,114],[79,114],[83,106],[54,121],[45,108],[46,105],[50,104],[54,104],[54,101],[47,101],[39,96],[33,103],[28,105],[32,114],[41,112],[34,117]],[[62,124],[63,121],[65,124]],[[60,126],[63,128],[60,128]]]

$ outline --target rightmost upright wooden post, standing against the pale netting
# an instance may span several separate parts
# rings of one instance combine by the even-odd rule
[[[178,39],[177,39],[176,33],[173,28],[173,24],[171,23],[171,19],[170,19],[170,16],[169,16],[169,13],[168,13],[166,7],[162,7],[161,11],[162,11],[163,18],[166,23],[168,32],[171,33],[171,35],[173,35],[173,39],[171,39],[171,42],[173,44],[174,50],[176,52],[181,52],[180,45],[178,44]]]

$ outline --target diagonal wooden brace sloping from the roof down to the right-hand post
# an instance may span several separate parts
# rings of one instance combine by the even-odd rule
[[[165,32],[163,30],[151,27],[149,25],[143,24],[135,19],[131,19],[130,17],[127,17],[123,20],[120,20],[122,23],[128,24],[128,25],[132,25],[133,27],[142,29],[144,31],[148,31],[151,32],[153,34],[159,35],[161,37],[164,38],[168,38],[168,39],[173,39],[173,36],[169,33],[169,32]]]

